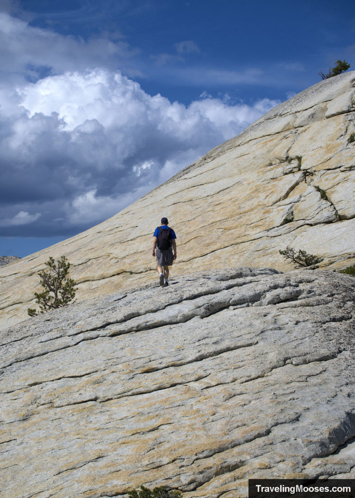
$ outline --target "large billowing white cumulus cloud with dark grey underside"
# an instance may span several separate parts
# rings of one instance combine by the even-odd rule
[[[18,84],[7,98],[2,91],[0,154],[6,174],[0,214],[6,221],[1,226],[31,223],[38,234],[55,235],[52,221],[60,220],[61,230],[83,230],[275,104],[266,99],[230,105],[206,94],[185,106],[147,94],[118,71],[98,68]]]

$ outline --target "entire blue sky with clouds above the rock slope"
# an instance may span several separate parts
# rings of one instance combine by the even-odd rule
[[[24,257],[115,215],[338,59],[355,69],[355,9],[0,0],[0,54],[0,255]]]

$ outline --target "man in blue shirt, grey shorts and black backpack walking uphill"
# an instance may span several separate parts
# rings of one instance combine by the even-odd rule
[[[157,270],[159,283],[162,287],[169,285],[169,266],[177,258],[177,236],[172,228],[168,227],[168,218],[162,218],[160,227],[155,229],[153,235],[153,256],[157,256]],[[174,249],[174,254],[173,254]]]

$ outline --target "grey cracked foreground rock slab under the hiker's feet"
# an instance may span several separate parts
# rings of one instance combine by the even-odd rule
[[[8,329],[1,497],[355,477],[354,290],[334,272],[215,270]]]

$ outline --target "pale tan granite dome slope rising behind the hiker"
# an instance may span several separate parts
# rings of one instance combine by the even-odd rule
[[[154,282],[152,235],[177,233],[173,274],[233,266],[293,269],[279,249],[355,263],[355,72],[322,81],[189,165],[116,216],[0,269],[0,320],[33,308],[37,272],[65,255],[77,299]],[[195,228],[198,227],[198,230]]]

